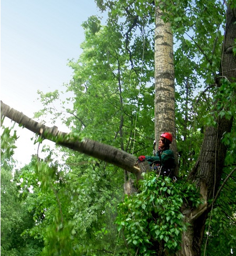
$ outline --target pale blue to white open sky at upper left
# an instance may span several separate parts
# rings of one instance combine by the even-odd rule
[[[101,16],[93,0],[2,0],[1,100],[32,118],[41,107],[37,90],[62,90],[72,77],[68,59],[81,54],[81,24],[91,15]],[[16,157],[23,158],[17,154],[34,153],[26,145],[32,134],[19,133]]]

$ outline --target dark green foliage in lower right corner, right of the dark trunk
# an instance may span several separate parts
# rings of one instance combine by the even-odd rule
[[[231,91],[230,88],[226,89]],[[230,93],[231,94],[231,93]],[[222,95],[220,95],[222,98]],[[229,98],[228,98],[229,99]],[[231,98],[232,99],[232,98]],[[224,99],[222,99],[224,101]],[[220,104],[220,102],[219,102]],[[233,106],[232,106],[233,107]],[[221,177],[220,186],[223,185],[224,180],[230,178],[224,184],[217,198],[209,218],[206,222],[206,234],[202,243],[202,251],[206,251],[207,255],[231,255],[236,251],[236,237],[235,237],[235,201],[236,201],[236,183],[235,183],[235,122],[231,133],[224,134],[222,142],[227,145],[228,152],[224,162],[223,174]],[[234,173],[232,173],[234,170]]]

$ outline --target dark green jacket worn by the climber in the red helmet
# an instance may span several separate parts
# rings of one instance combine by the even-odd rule
[[[161,161],[160,161],[161,158]],[[172,169],[175,167],[175,157],[174,153],[171,150],[164,150],[160,152],[160,157],[158,152],[156,153],[156,156],[145,156],[145,160],[148,161],[150,164],[160,164],[167,168]]]

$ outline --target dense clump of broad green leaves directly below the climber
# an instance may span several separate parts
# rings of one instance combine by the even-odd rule
[[[174,253],[186,228],[181,214],[184,202],[193,207],[200,204],[194,186],[147,173],[141,181],[140,193],[125,196],[119,204],[116,223],[119,230],[124,228],[127,242],[138,247],[139,255],[156,255],[157,243],[163,243],[167,251]]]

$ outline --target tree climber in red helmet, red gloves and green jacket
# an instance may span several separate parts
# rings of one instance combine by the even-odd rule
[[[164,132],[160,135],[158,143],[158,151],[154,156],[139,156],[138,161],[148,161],[152,169],[163,176],[173,178],[175,168],[175,157],[173,151],[170,150],[170,143],[173,141],[173,136]],[[154,141],[155,143],[155,141]]]

